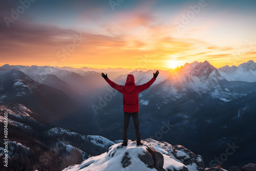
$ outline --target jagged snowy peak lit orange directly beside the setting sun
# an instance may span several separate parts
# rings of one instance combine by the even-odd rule
[[[218,80],[222,79],[218,70],[208,61],[186,63],[177,72],[157,85],[157,95],[168,101],[175,101],[188,92],[202,95],[213,88],[220,87]]]

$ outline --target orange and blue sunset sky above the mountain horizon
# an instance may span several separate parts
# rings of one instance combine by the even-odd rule
[[[20,2],[0,2],[0,66],[166,70],[256,61],[255,0]]]

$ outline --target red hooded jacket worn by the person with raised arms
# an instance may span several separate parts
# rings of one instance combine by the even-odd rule
[[[106,82],[108,82],[112,88],[123,94],[123,112],[132,113],[139,111],[139,93],[149,88],[155,80],[156,79],[153,77],[147,83],[136,86],[134,83],[134,75],[129,74],[127,75],[125,86],[120,86],[109,78],[106,79]]]

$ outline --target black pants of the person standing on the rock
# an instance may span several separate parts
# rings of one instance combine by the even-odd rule
[[[130,117],[133,117],[133,123],[135,126],[135,131],[136,131],[136,141],[140,142],[140,124],[139,124],[139,112],[134,112],[134,113],[128,113],[128,112],[123,112],[123,142],[128,141],[128,126],[129,126],[129,121]]]

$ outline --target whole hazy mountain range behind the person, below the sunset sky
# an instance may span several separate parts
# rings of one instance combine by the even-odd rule
[[[111,89],[100,76],[101,72],[118,84],[124,84],[128,74],[135,76],[136,84],[143,84],[156,70],[4,65],[0,68],[1,110],[12,111],[12,115],[22,113],[20,117],[12,116],[13,126],[28,125],[24,136],[35,136],[38,143],[42,142],[39,130],[54,127],[102,136],[114,142],[122,135],[122,94]],[[182,144],[202,155],[205,166],[225,153],[227,144],[234,143],[239,146],[237,151],[219,163],[223,167],[242,167],[253,162],[256,153],[253,148],[256,140],[254,61],[219,69],[208,61],[196,61],[159,72],[153,85],[139,94],[142,138]],[[130,139],[135,138],[133,133],[134,128],[130,126]],[[26,142],[20,143],[26,146]],[[83,159],[96,155],[84,153],[88,155],[83,155]],[[102,149],[97,155],[101,153]]]

